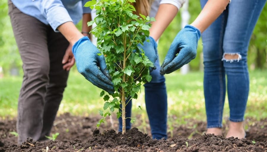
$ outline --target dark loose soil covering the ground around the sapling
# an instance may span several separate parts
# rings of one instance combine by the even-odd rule
[[[172,124],[174,129],[168,129],[167,140],[152,140],[149,125],[142,126],[138,121],[135,121],[133,128],[124,135],[117,132],[117,120],[111,118],[107,119],[105,124],[101,124],[100,130],[96,130],[99,119],[99,116],[79,117],[68,113],[62,114],[56,118],[52,129],[52,133],[59,133],[55,141],[36,142],[28,138],[20,145],[16,144],[17,137],[10,134],[16,132],[16,120],[2,119],[0,152],[267,151],[267,119],[256,121],[247,118],[247,136],[243,139],[206,135],[205,122],[187,120],[189,123],[186,125]],[[224,126],[223,129],[227,130],[228,127]],[[223,134],[225,135],[225,132]]]

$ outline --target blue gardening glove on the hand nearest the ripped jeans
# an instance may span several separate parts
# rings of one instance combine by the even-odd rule
[[[196,57],[196,49],[200,31],[191,26],[185,25],[171,43],[169,51],[160,67],[160,75],[168,74],[179,69]]]

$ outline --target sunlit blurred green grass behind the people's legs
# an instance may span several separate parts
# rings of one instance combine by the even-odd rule
[[[249,74],[250,91],[245,117],[266,118],[267,71],[251,71]],[[187,75],[173,72],[165,77],[169,121],[177,121],[178,124],[187,123],[187,118],[205,121],[203,72],[190,72]],[[16,116],[21,81],[22,77],[0,78],[0,117]],[[72,70],[58,114],[64,112],[85,116],[98,114],[98,110],[101,110],[104,105],[103,99],[99,96],[100,92],[101,89],[85,80],[76,70]],[[141,106],[142,110],[137,109],[138,106]],[[132,110],[133,117],[141,114],[144,119],[147,119],[143,88],[138,99],[133,101]],[[229,117],[227,97],[224,105],[224,117]]]

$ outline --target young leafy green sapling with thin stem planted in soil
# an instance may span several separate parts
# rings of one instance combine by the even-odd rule
[[[117,112],[117,118],[122,117],[123,129],[125,132],[125,101],[137,98],[137,93],[141,90],[143,83],[149,82],[151,76],[149,67],[154,64],[145,56],[144,51],[137,45],[143,45],[148,41],[150,24],[154,18],[136,15],[135,8],[131,3],[135,0],[92,0],[85,4],[85,7],[96,9],[96,18],[88,22],[88,26],[96,23],[92,33],[97,38],[97,47],[104,55],[107,69],[114,83],[115,93],[110,94],[104,91],[100,96],[104,97],[104,110],[110,109]],[[104,118],[110,115],[109,112],[99,112]],[[97,126],[104,121],[101,119]]]

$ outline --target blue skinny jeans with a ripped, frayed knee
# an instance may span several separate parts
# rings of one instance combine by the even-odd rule
[[[206,2],[207,0],[200,0],[202,8]],[[266,0],[233,0],[202,33],[207,128],[222,127],[226,86],[229,120],[244,120],[249,93],[247,49],[265,2]],[[238,55],[238,59],[226,59],[225,54]]]

